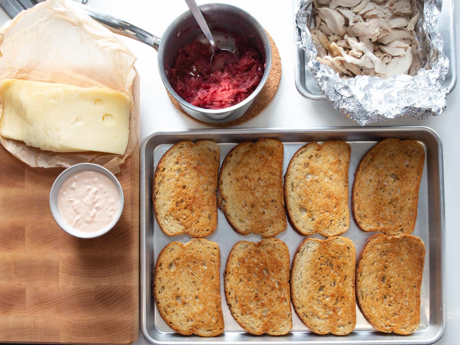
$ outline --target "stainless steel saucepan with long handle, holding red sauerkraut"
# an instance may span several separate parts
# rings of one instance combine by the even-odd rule
[[[178,49],[187,45],[195,38],[204,38],[200,27],[197,25],[190,11],[186,11],[178,16],[167,27],[163,36],[159,38],[130,23],[111,17],[91,7],[81,6],[81,8],[85,9],[90,17],[103,24],[112,32],[131,37],[155,48],[158,51],[158,69],[160,70],[161,80],[165,84],[167,91],[178,100],[185,112],[198,120],[227,122],[242,116],[264,87],[270,73],[270,42],[264,28],[253,16],[236,6],[226,4],[201,5],[200,10],[207,20],[214,40],[219,42],[219,47],[232,51],[235,50],[235,39],[229,35],[229,32],[246,37],[248,43],[259,52],[262,61],[265,63],[265,72],[256,90],[241,103],[229,108],[216,110],[196,107],[186,102],[173,90],[167,75],[167,71],[172,65]]]

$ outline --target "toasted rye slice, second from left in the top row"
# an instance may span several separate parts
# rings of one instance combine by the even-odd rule
[[[282,170],[278,140],[262,138],[230,150],[219,173],[219,207],[237,232],[272,237],[286,230]]]

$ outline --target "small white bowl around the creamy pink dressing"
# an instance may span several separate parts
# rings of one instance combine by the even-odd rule
[[[88,231],[81,231],[81,230],[74,229],[72,226],[70,226],[64,221],[64,219],[61,217],[61,213],[59,213],[59,209],[57,208],[57,193],[61,189],[61,186],[64,183],[64,181],[67,180],[67,178],[69,178],[70,175],[81,172],[83,170],[97,171],[99,173],[103,173],[104,175],[106,175],[115,184],[118,190],[118,194],[120,195],[120,207],[118,209],[118,213],[116,217],[112,220],[112,222],[109,225],[97,231],[88,232]],[[123,196],[123,189],[121,188],[121,184],[118,181],[118,179],[115,177],[115,175],[113,173],[110,173],[109,170],[107,170],[106,168],[101,167],[100,165],[97,165],[97,164],[92,164],[92,163],[75,164],[74,166],[68,167],[67,169],[65,169],[56,178],[56,181],[54,181],[53,186],[51,187],[51,192],[50,192],[50,208],[51,208],[51,213],[53,215],[54,220],[56,220],[56,223],[61,227],[62,230],[64,230],[70,235],[73,235],[75,237],[80,237],[80,238],[94,238],[94,237],[98,237],[98,236],[104,235],[105,233],[109,232],[120,219],[121,213],[123,212],[124,203],[125,203],[125,198]]]

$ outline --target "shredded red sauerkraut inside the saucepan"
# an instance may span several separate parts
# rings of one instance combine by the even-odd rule
[[[210,45],[194,40],[180,48],[169,69],[175,92],[187,102],[206,109],[223,109],[246,99],[262,80],[264,65],[254,48],[242,48],[240,61],[223,72],[211,71]]]

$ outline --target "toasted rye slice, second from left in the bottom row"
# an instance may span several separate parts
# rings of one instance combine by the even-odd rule
[[[237,242],[224,272],[231,315],[252,334],[286,334],[292,329],[289,250],[277,238]]]

